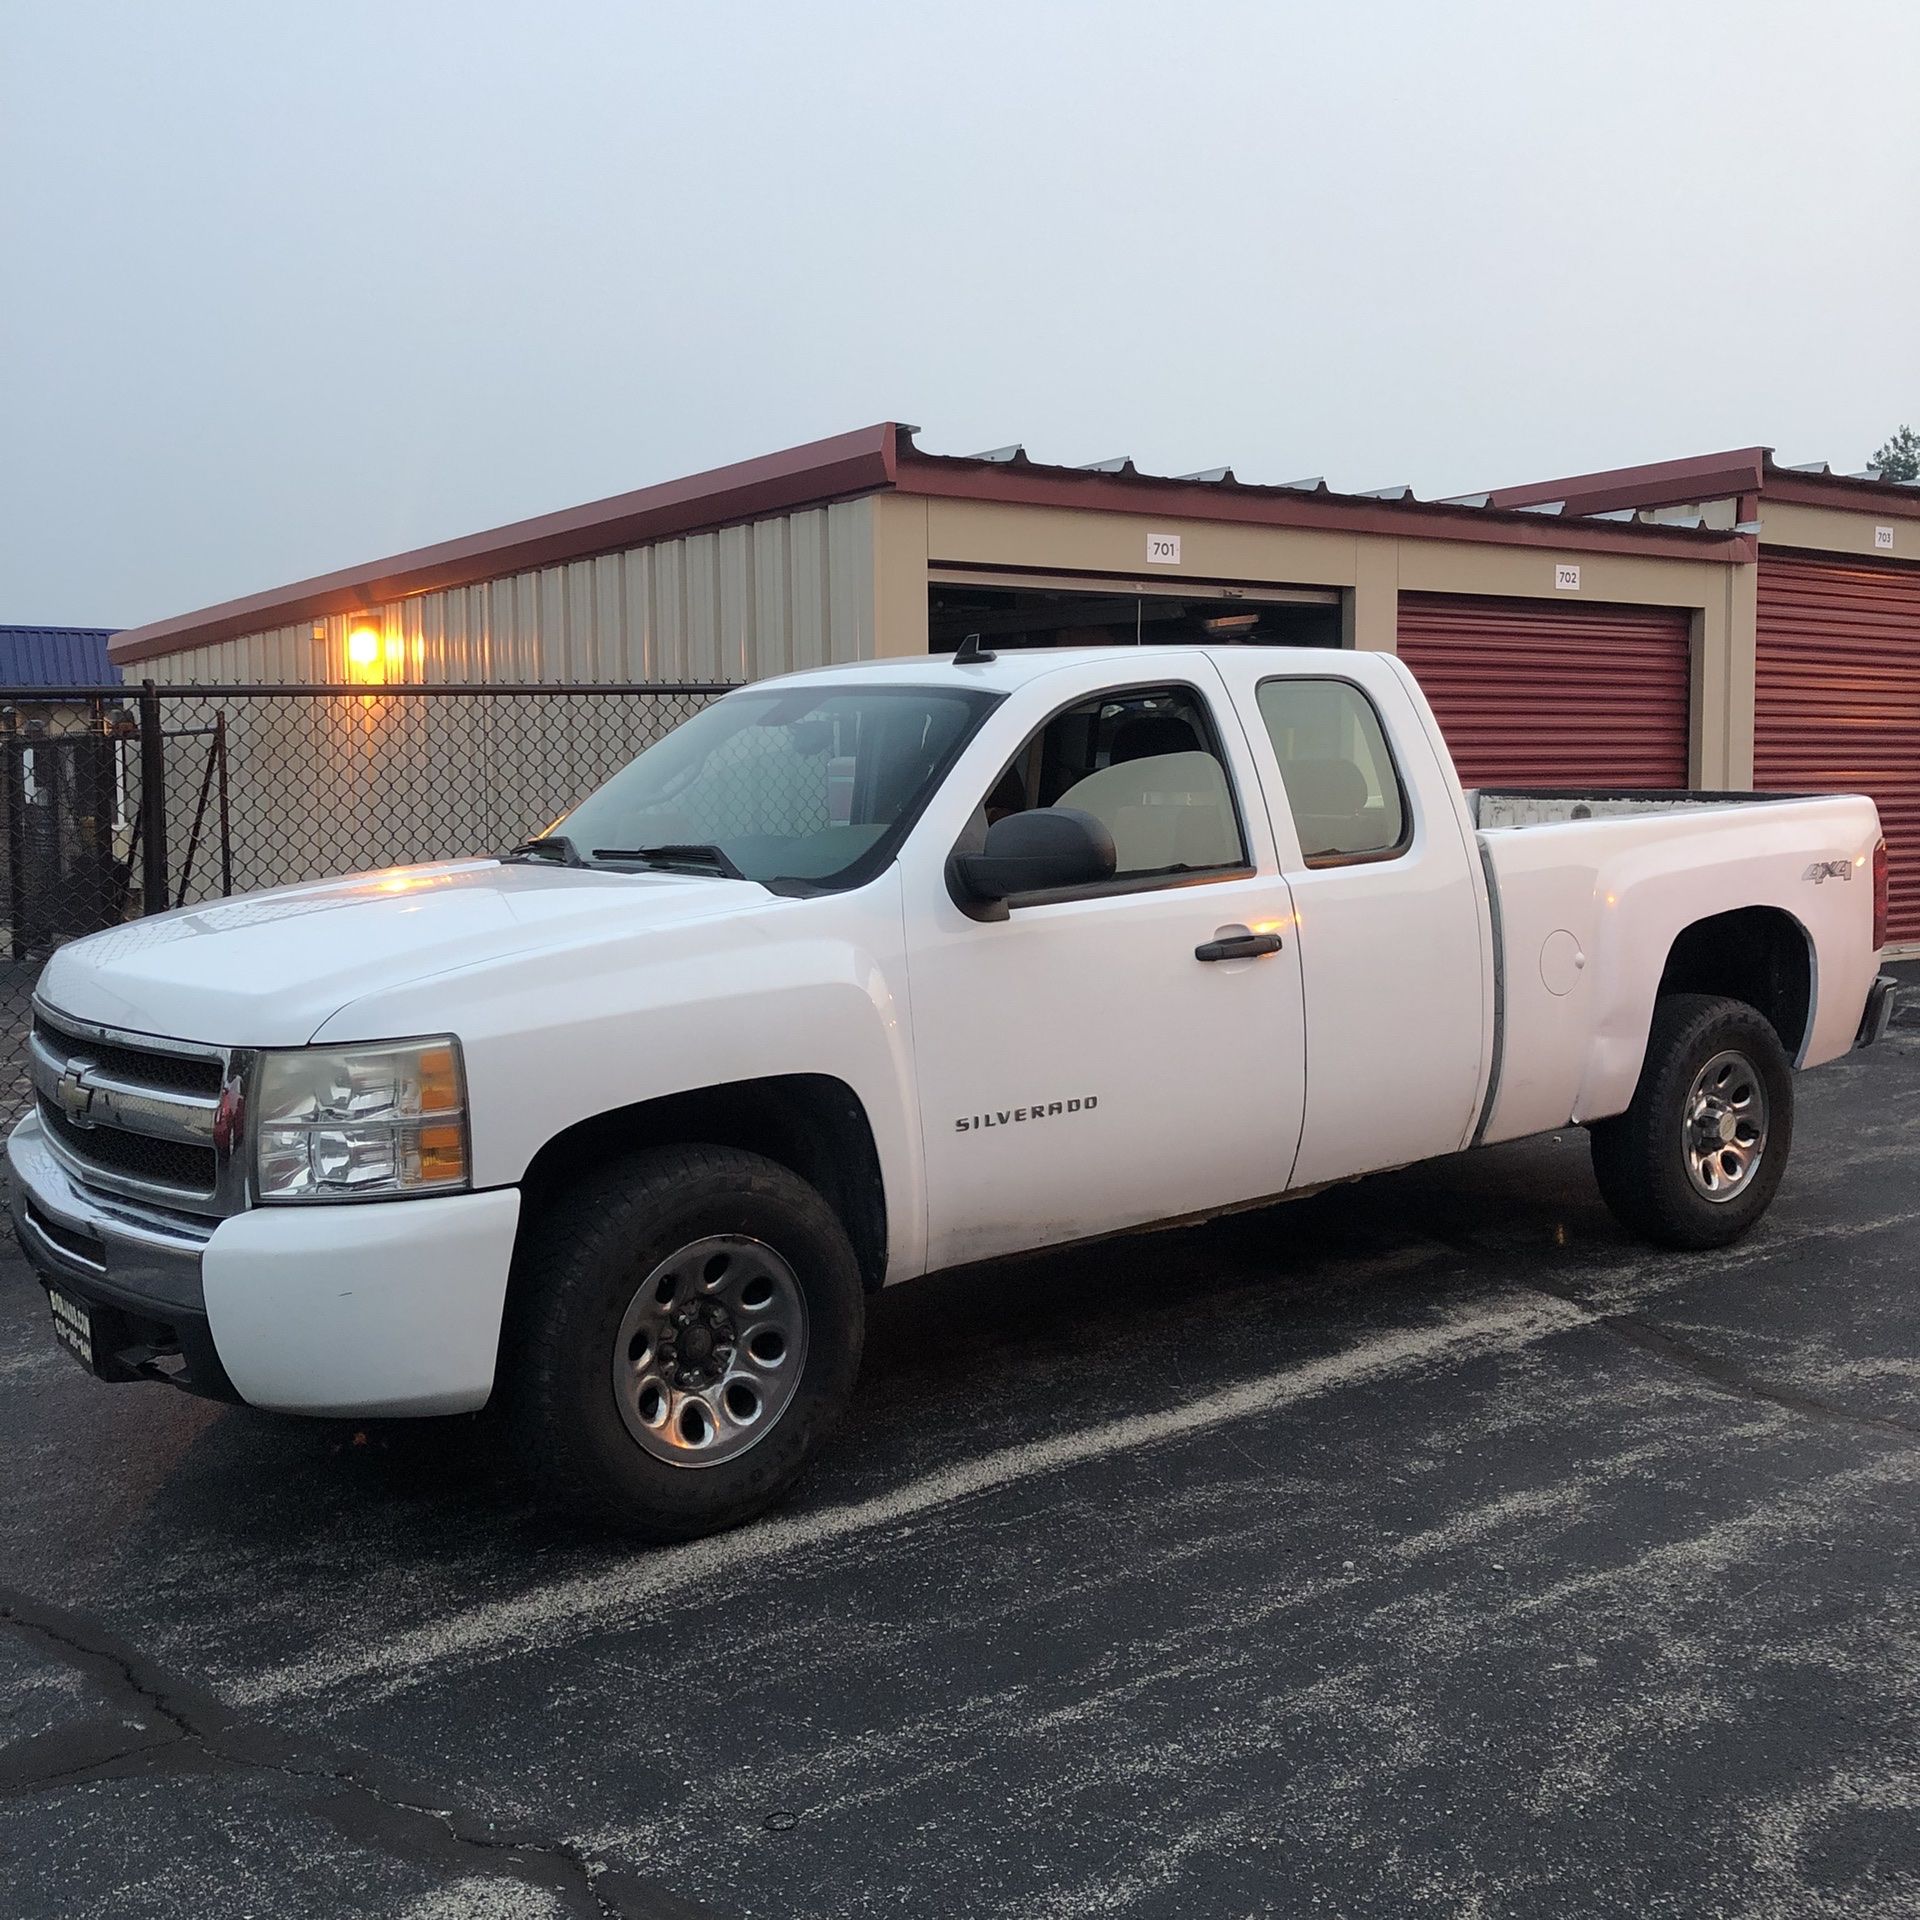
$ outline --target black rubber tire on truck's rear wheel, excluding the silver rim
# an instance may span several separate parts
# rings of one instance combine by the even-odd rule
[[[1743,1185],[1709,1198],[1688,1171],[1688,1102],[1718,1054],[1751,1064],[1766,1098],[1763,1144]],[[1772,1023],[1743,1000],[1676,993],[1653,1006],[1634,1104],[1590,1129],[1594,1177],[1615,1217],[1659,1246],[1728,1246],[1772,1204],[1793,1152],[1793,1071]]]

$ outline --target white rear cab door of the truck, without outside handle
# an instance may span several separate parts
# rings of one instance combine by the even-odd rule
[[[1465,1146],[1488,1069],[1478,851],[1398,676],[1219,659],[1261,760],[1300,924],[1308,1092],[1294,1185]]]

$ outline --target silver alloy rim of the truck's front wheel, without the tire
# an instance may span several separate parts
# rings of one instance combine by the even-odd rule
[[[674,1467],[718,1467],[764,1438],[806,1367],[806,1296],[762,1240],[720,1233],[668,1254],[612,1346],[626,1430]]]

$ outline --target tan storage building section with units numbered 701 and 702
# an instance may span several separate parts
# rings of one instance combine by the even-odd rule
[[[134,628],[113,657],[357,685],[749,680],[968,632],[1400,647],[1469,780],[1724,783],[1751,555],[1634,513],[960,459],[881,424]]]

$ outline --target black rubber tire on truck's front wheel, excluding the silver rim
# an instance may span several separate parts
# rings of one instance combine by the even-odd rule
[[[647,1452],[614,1398],[612,1356],[639,1286],[708,1236],[772,1248],[804,1298],[793,1398],[735,1457],[678,1465]],[[522,1225],[501,1373],[516,1453],[541,1498],[643,1540],[737,1526],[799,1476],[852,1394],[866,1292],[847,1233],[787,1167],[724,1146],[634,1154]]]

